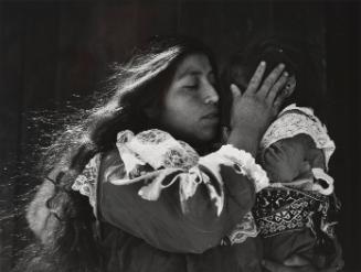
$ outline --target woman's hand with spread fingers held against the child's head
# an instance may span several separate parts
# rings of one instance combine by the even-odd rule
[[[229,143],[255,154],[258,142],[270,121],[278,113],[284,99],[290,95],[282,91],[288,79],[285,65],[279,64],[262,81],[266,63],[262,62],[242,95],[237,86],[231,85],[233,105]]]

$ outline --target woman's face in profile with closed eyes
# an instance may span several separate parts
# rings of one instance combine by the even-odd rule
[[[202,54],[184,57],[166,93],[160,126],[180,140],[213,140],[220,122],[219,94],[210,59]]]

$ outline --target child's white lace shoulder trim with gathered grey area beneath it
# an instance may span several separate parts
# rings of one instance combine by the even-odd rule
[[[335,143],[314,111],[290,105],[267,129],[258,156],[272,182],[287,183],[323,178],[333,151]]]

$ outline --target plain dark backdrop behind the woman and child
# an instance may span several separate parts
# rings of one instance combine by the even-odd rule
[[[288,33],[309,45],[318,80],[311,96],[320,99],[317,110],[337,145],[330,172],[343,205],[338,236],[346,270],[361,271],[360,7],[351,1],[0,1],[1,210],[17,208],[15,196],[36,185],[13,178],[21,175],[13,165],[26,157],[29,139],[43,133],[34,132],[28,112],[82,100],[99,88],[108,65],[124,61],[139,42],[153,34],[194,36],[222,65],[257,32]],[[0,214],[0,271],[9,271],[21,243],[13,233],[23,220],[8,215]]]

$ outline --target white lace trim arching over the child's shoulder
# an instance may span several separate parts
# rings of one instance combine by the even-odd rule
[[[261,141],[262,156],[273,143],[300,133],[311,137],[316,146],[323,151],[328,168],[329,160],[336,149],[335,142],[328,135],[327,128],[314,115],[312,109],[297,107],[296,104],[286,107],[265,132]]]

